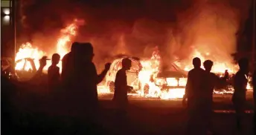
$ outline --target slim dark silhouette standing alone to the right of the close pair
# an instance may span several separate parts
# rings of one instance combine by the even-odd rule
[[[234,75],[234,93],[232,96],[232,102],[237,115],[237,129],[241,129],[241,120],[245,113],[246,106],[246,86],[248,82],[249,74],[249,60],[246,58],[238,61],[240,70]]]

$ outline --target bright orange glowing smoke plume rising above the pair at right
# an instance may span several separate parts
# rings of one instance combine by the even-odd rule
[[[179,33],[170,29],[169,55],[191,62],[196,51],[217,62],[232,62],[248,6],[249,1],[197,1],[178,15]]]

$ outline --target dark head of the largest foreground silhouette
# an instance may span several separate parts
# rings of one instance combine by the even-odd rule
[[[92,44],[89,42],[80,43],[79,48],[80,56],[83,56],[86,61],[92,61],[95,56]]]

